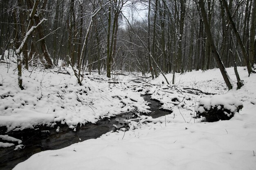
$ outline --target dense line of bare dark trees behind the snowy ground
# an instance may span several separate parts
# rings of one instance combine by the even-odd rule
[[[225,67],[254,73],[255,18],[256,0],[0,0],[0,54],[16,53],[19,76],[70,65],[79,84],[84,70],[173,72],[174,83],[175,72],[218,67],[231,89]]]

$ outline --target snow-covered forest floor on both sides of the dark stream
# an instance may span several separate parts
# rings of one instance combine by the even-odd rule
[[[141,116],[129,120],[126,132],[109,132],[98,139],[89,139],[60,150],[39,152],[14,170],[254,170],[256,167],[256,75],[250,77],[238,68],[244,86],[227,91],[220,71],[193,71],[176,74],[175,86],[162,84],[162,75],[154,80],[134,83],[133,75],[119,75],[117,86],[111,88],[105,75],[88,75],[83,84],[76,84],[72,75],[54,70],[23,72],[25,90],[17,85],[13,68],[7,73],[0,64],[2,86],[0,95],[0,126],[9,130],[32,128],[36,124],[62,121],[68,126],[95,122],[103,115],[115,115],[137,107],[148,112],[148,103],[141,94],[152,93],[162,107],[173,113],[153,119]],[[236,80],[233,68],[227,69]],[[72,74],[72,72],[70,71]],[[30,75],[31,74],[31,75]],[[1,84],[0,76],[0,84]],[[168,80],[172,74],[166,75]],[[97,78],[97,79],[95,79]],[[171,81],[170,81],[171,82]],[[200,97],[189,94],[186,87],[207,93],[234,96],[243,109],[228,121],[213,123],[194,119]],[[81,93],[81,94],[80,94]],[[87,94],[87,95],[86,95]],[[64,107],[64,108],[63,108]]]

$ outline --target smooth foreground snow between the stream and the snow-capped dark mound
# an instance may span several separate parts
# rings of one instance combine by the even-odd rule
[[[172,119],[171,115],[166,117]],[[255,120],[255,115],[249,117]],[[255,126],[244,125],[236,119],[209,124],[167,123],[166,127],[151,123],[125,135],[109,133],[61,150],[40,152],[14,170],[254,170]]]

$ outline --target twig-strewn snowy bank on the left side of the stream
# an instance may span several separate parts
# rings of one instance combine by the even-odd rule
[[[83,79],[84,85],[79,86],[69,68],[72,75],[57,73],[58,69],[31,68],[32,73],[24,69],[25,90],[20,90],[17,71],[12,71],[15,68],[11,64],[7,73],[7,65],[0,63],[0,126],[7,126],[8,131],[53,126],[56,121],[75,128],[78,124],[95,123],[100,117],[135,110],[135,106],[140,112],[150,113],[148,102],[140,93],[126,90],[125,84],[108,88],[107,81],[94,79],[107,80],[106,75],[88,75]]]

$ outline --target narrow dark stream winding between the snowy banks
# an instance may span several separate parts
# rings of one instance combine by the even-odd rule
[[[161,117],[170,114],[170,111],[159,110],[161,106],[159,102],[151,100],[150,95],[144,95],[144,99],[151,103],[150,116],[153,118]],[[124,124],[124,119],[132,119],[134,112],[122,113],[116,117],[111,117],[109,119],[101,119],[97,121],[96,124],[88,123],[85,126],[77,127],[74,132],[67,125],[56,125],[60,126],[60,130],[57,133],[56,127],[48,129],[47,132],[42,132],[42,129],[29,130],[22,133],[13,133],[9,136],[15,137],[22,140],[22,144],[25,146],[23,149],[13,150],[14,146],[9,148],[0,148],[0,170],[11,170],[18,163],[25,161],[31,155],[41,152],[44,150],[56,150],[70,146],[71,144],[77,143],[79,141],[85,141],[87,139],[96,139],[101,135],[115,130],[113,124],[117,128],[126,127]],[[127,128],[127,127],[126,127]],[[4,135],[4,134],[3,134]],[[2,141],[8,142],[8,141]],[[16,144],[18,145],[18,144]],[[15,146],[16,146],[15,145]]]

